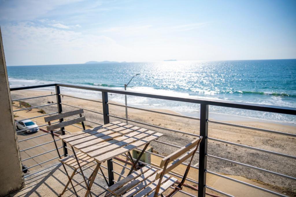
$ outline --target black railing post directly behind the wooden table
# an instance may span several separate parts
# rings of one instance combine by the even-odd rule
[[[109,124],[109,107],[108,107],[108,92],[102,92],[102,103],[103,103],[103,117],[104,117],[104,124]],[[109,179],[109,186],[113,185],[114,182],[114,174],[113,170],[113,163],[112,159],[107,160],[107,167],[108,167],[108,179]]]

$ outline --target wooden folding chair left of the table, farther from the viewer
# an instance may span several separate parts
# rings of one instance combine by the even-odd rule
[[[79,109],[79,110],[60,113],[60,114],[57,114],[57,115],[52,115],[52,116],[44,118],[44,121],[48,122],[48,125],[49,125],[49,126],[46,127],[47,131],[50,131],[50,133],[52,135],[52,138],[54,139],[54,133],[57,132],[57,131],[54,131],[54,130],[55,129],[60,129],[60,131],[62,131],[65,126],[70,126],[70,125],[73,125],[73,124],[76,124],[76,123],[81,123],[82,127],[83,127],[83,130],[85,130],[85,126],[84,126],[84,123],[83,123],[83,121],[85,121],[85,117],[82,116],[82,113],[83,113],[83,109]],[[79,118],[75,118],[75,119],[72,119],[72,120],[69,120],[69,121],[64,121],[63,120],[64,118],[67,118],[67,117],[70,117],[70,116],[73,116],[73,115],[78,115],[78,114],[80,116]],[[54,121],[54,120],[58,120],[58,119],[59,119],[59,123],[51,125],[50,121]],[[63,142],[63,143],[65,143],[65,142]],[[56,143],[55,140],[54,140],[54,145],[55,145],[55,147],[57,149],[57,154],[59,155],[59,161],[62,163],[62,165],[63,165],[63,167],[65,169],[66,175],[68,177],[68,182],[65,185],[65,188],[62,191],[62,193],[59,194],[59,196],[63,195],[65,193],[65,191],[71,189],[71,188],[67,189],[69,183],[71,184],[75,195],[78,196],[77,193],[76,193],[76,190],[75,190],[75,186],[77,186],[77,185],[79,185],[79,184],[81,184],[83,182],[85,182],[86,188],[87,188],[87,192],[86,192],[85,196],[88,196],[88,194],[91,196],[90,188],[91,188],[91,185],[92,185],[92,182],[93,182],[92,177],[95,177],[93,175],[94,175],[94,173],[97,173],[99,169],[102,172],[102,169],[100,168],[100,165],[96,164],[96,168],[95,168],[94,172],[90,175],[90,177],[88,179],[86,179],[84,174],[83,174],[83,170],[81,169],[81,167],[83,167],[85,165],[88,165],[89,163],[94,162],[95,160],[93,158],[87,156],[86,154],[82,153],[82,152],[75,153],[73,147],[71,147],[72,151],[73,151],[73,155],[70,155],[70,156],[64,155],[65,157],[62,158],[60,153],[59,153],[57,143]],[[74,170],[71,176],[69,176],[65,165],[71,167]],[[80,172],[76,173],[78,168],[80,169]],[[83,181],[81,183],[73,185],[73,183],[72,183],[73,176],[75,174],[78,174],[78,173],[82,174]],[[88,185],[86,180],[91,180],[91,184]]]

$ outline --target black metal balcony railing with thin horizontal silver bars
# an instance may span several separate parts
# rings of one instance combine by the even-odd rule
[[[296,159],[296,157],[293,156],[293,155],[283,154],[283,153],[279,153],[279,152],[273,152],[273,151],[269,151],[269,150],[265,150],[265,149],[260,149],[260,148],[256,148],[256,147],[252,147],[252,146],[247,146],[247,145],[243,145],[243,144],[238,144],[238,143],[234,143],[234,142],[229,142],[229,141],[225,141],[225,140],[221,140],[221,139],[215,139],[215,138],[208,137],[208,123],[222,124],[222,125],[227,125],[227,126],[231,126],[231,127],[239,127],[239,128],[250,129],[250,130],[256,130],[256,131],[260,131],[260,132],[268,132],[268,133],[274,133],[274,134],[278,134],[278,135],[296,137],[296,134],[293,134],[293,133],[284,133],[284,132],[280,132],[280,131],[273,131],[273,130],[267,130],[267,129],[262,129],[262,128],[254,128],[254,127],[249,127],[249,126],[243,126],[243,125],[237,125],[237,124],[232,124],[232,123],[209,120],[209,118],[208,118],[209,105],[215,105],[215,106],[221,106],[221,107],[227,107],[227,108],[239,108],[239,109],[245,109],[245,110],[257,110],[257,111],[270,112],[270,113],[282,113],[282,114],[289,114],[289,115],[296,115],[296,108],[279,107],[279,106],[271,106],[271,105],[258,105],[258,104],[249,104],[249,103],[240,103],[240,102],[229,102],[229,101],[217,101],[217,100],[199,100],[199,99],[193,99],[193,98],[173,97],[173,96],[165,96],[165,95],[156,95],[156,94],[151,94],[151,93],[132,92],[132,91],[125,91],[125,90],[118,90],[118,89],[108,89],[108,88],[79,86],[79,85],[71,85],[71,84],[58,84],[58,83],[57,84],[44,84],[44,85],[37,85],[37,86],[28,86],[28,87],[16,87],[16,88],[10,88],[10,91],[25,90],[25,89],[35,89],[35,88],[41,88],[41,87],[55,87],[56,93],[54,95],[56,96],[57,102],[52,103],[52,104],[47,104],[47,105],[41,105],[41,106],[36,106],[36,107],[20,109],[20,110],[28,110],[28,109],[33,109],[33,108],[42,108],[42,107],[49,106],[49,105],[57,105],[57,112],[46,114],[46,115],[53,115],[53,114],[56,114],[56,113],[62,113],[63,112],[63,110],[62,110],[63,105],[68,106],[68,107],[73,107],[73,108],[81,108],[81,107],[78,107],[78,106],[63,103],[61,101],[61,96],[65,96],[65,97],[72,97],[72,98],[75,98],[75,99],[82,99],[82,100],[87,100],[87,101],[91,101],[91,102],[102,103],[102,109],[103,109],[102,111],[103,111],[103,113],[95,111],[95,110],[85,109],[85,108],[81,108],[81,109],[89,111],[91,113],[97,113],[97,114],[103,115],[104,124],[109,123],[110,122],[109,118],[113,117],[113,118],[118,118],[118,119],[121,119],[121,120],[126,120],[126,121],[130,121],[130,122],[138,123],[138,124],[145,125],[145,126],[150,126],[150,127],[154,127],[154,128],[158,128],[158,129],[163,129],[163,130],[170,131],[170,132],[186,134],[186,135],[192,136],[192,137],[203,136],[203,140],[200,143],[199,152],[197,152],[199,154],[198,167],[196,167],[194,165],[191,165],[192,168],[198,169],[198,181],[192,180],[190,178],[186,179],[188,182],[198,184],[198,197],[204,197],[205,196],[206,188],[209,189],[209,190],[221,193],[221,194],[223,194],[225,196],[231,196],[230,194],[227,194],[227,193],[225,193],[223,191],[219,191],[219,190],[217,190],[217,189],[215,189],[213,187],[208,186],[207,181],[206,181],[206,174],[207,173],[218,176],[218,177],[222,177],[222,178],[225,178],[225,179],[228,179],[228,180],[232,180],[234,182],[237,182],[237,183],[240,183],[240,184],[243,184],[243,185],[247,185],[247,186],[250,186],[252,188],[256,188],[258,190],[261,190],[261,191],[264,191],[264,192],[267,192],[267,193],[271,193],[271,194],[274,194],[274,195],[277,195],[277,196],[285,196],[284,194],[277,193],[275,191],[271,191],[271,190],[268,190],[268,189],[265,189],[265,188],[262,188],[262,187],[259,187],[259,186],[256,186],[256,185],[252,185],[252,184],[243,182],[241,180],[236,180],[234,178],[230,178],[228,176],[221,175],[221,174],[212,172],[210,170],[207,170],[207,158],[208,157],[214,158],[214,159],[220,159],[220,160],[223,160],[225,162],[230,162],[230,163],[233,163],[233,164],[236,164],[236,165],[251,168],[253,170],[258,170],[258,171],[261,171],[261,172],[269,173],[269,174],[276,175],[276,176],[279,176],[279,177],[282,177],[282,178],[287,178],[287,179],[291,179],[291,180],[296,181],[295,177],[291,177],[289,175],[284,175],[284,174],[281,174],[281,173],[278,173],[278,172],[273,172],[273,171],[266,170],[266,169],[259,168],[259,167],[255,167],[255,166],[252,166],[252,165],[247,165],[247,164],[244,164],[244,163],[241,163],[241,162],[237,162],[237,161],[225,159],[225,158],[222,158],[222,157],[210,155],[210,154],[207,153],[207,141],[211,140],[211,141],[218,141],[218,142],[222,142],[222,143],[225,143],[225,144],[231,144],[231,145],[234,145],[234,146],[243,147],[243,148],[246,148],[246,149],[252,149],[252,150],[255,150],[255,151],[260,151],[260,152],[264,152],[264,153],[268,153],[268,154],[275,154],[275,155],[280,156],[280,157],[287,157],[289,159]],[[101,92],[102,93],[102,101],[85,99],[85,98],[80,98],[80,97],[74,97],[74,96],[71,96],[71,95],[61,94],[60,93],[60,87],[84,89],[84,90],[91,90],[91,91]],[[108,93],[121,94],[121,95],[133,95],[133,96],[139,96],[139,97],[148,97],[148,98],[155,98],[155,99],[162,99],[162,100],[172,100],[172,101],[180,101],[180,102],[188,102],[188,103],[200,104],[200,118],[186,116],[186,115],[177,115],[177,114],[172,114],[172,113],[165,113],[165,112],[160,112],[160,111],[155,111],[155,110],[131,107],[131,106],[126,106],[126,105],[121,105],[121,104],[108,102]],[[53,96],[53,95],[44,95],[44,96],[38,96],[38,97],[15,99],[15,100],[12,100],[12,101],[28,100],[28,99],[34,99],[34,98],[40,98],[40,97],[48,97],[48,96]],[[185,131],[179,131],[179,130],[175,130],[175,129],[165,128],[165,127],[161,127],[161,126],[156,126],[156,125],[153,125],[153,124],[148,124],[148,123],[144,123],[144,122],[140,122],[140,121],[135,121],[135,120],[127,119],[127,118],[122,118],[122,117],[119,117],[119,116],[115,116],[115,115],[109,114],[109,105],[116,105],[116,106],[120,106],[120,107],[124,107],[124,108],[131,108],[131,109],[136,109],[136,110],[148,111],[148,112],[151,112],[151,113],[160,113],[160,114],[168,115],[168,116],[177,116],[177,117],[181,117],[181,118],[197,120],[197,121],[200,121],[200,135],[185,132]],[[17,111],[20,111],[20,110],[14,110],[14,112],[17,112]],[[32,118],[43,117],[43,116],[46,116],[46,115],[35,116],[35,117],[32,117]],[[31,119],[31,118],[26,118],[26,119],[23,119],[23,120],[27,120],[27,119]],[[19,121],[22,121],[22,120],[18,120],[18,121],[15,121],[15,122],[19,122]],[[97,125],[103,125],[101,123],[97,123],[97,122],[91,121],[91,120],[86,120],[86,121],[88,121],[90,123],[97,124]],[[47,124],[44,124],[44,125],[41,125],[41,126],[47,126]],[[41,127],[41,126],[39,126],[39,127]],[[73,125],[73,126],[81,128],[81,127],[76,126],[76,125]],[[17,133],[20,133],[20,132],[23,132],[23,131],[25,131],[25,130],[17,131]],[[55,131],[55,132],[59,132],[59,131]],[[65,132],[70,133],[69,131],[66,131],[65,129],[62,129],[61,134],[65,135]],[[44,135],[47,135],[47,134],[49,134],[49,133],[45,133],[45,134],[42,134],[42,135],[27,138],[25,140],[20,140],[19,142],[26,141],[26,140],[32,140],[32,139],[35,139],[35,138],[38,138],[40,136],[44,136]],[[56,141],[58,141],[58,140],[59,139],[57,139]],[[26,148],[26,149],[22,149],[22,150],[20,150],[20,152],[23,152],[23,151],[26,151],[26,150],[29,150],[29,149],[33,149],[33,148],[36,148],[36,147],[39,147],[39,146],[43,146],[43,145],[51,143],[51,142],[53,142],[53,141],[48,141],[48,142],[43,143],[43,144],[38,144],[36,146],[32,146],[32,147],[29,147],[29,148]],[[180,146],[169,144],[167,142],[163,142],[163,141],[159,141],[159,140],[156,140],[156,142],[160,143],[160,144],[163,144],[165,146],[181,148]],[[59,149],[63,149],[64,155],[69,155],[68,154],[68,149],[69,148],[66,146],[65,143],[63,143],[62,146],[59,147]],[[71,149],[69,149],[69,150],[71,150]],[[138,148],[138,150],[141,150],[141,149]],[[52,151],[54,151],[54,149],[46,151],[46,152],[41,153],[41,154],[34,155],[32,157],[22,159],[22,161],[26,161],[28,159],[33,159],[35,157],[39,157],[39,156],[41,156],[43,154],[46,154],[46,153],[49,153],[49,152],[52,152]],[[148,152],[148,151],[146,151],[146,152]],[[162,156],[160,154],[156,154],[156,153],[153,153],[153,152],[149,152],[149,153],[152,154],[152,155],[161,157],[161,158],[164,157],[164,156]],[[52,159],[40,162],[37,165],[52,161],[52,160],[54,160],[56,158],[57,157],[54,157]],[[113,163],[116,164],[116,165],[119,165],[119,166],[121,166],[123,168],[126,168],[126,169],[130,170],[130,168],[128,168],[128,167],[126,167],[124,165],[121,165],[120,163],[116,162],[115,160],[116,159],[109,160],[107,162],[107,167],[102,166],[103,168],[108,170],[108,178],[107,179],[108,179],[110,185],[112,185],[113,183],[116,183],[116,181],[114,180],[114,174],[117,174],[120,177],[125,177],[124,175],[121,175],[119,172],[116,172],[113,169]],[[145,165],[149,165],[149,164],[144,163],[144,162],[141,162],[141,163],[143,163]],[[182,163],[182,165],[187,165],[187,164]],[[30,169],[30,168],[35,167],[35,166],[36,165],[33,165],[33,166],[30,166],[30,167],[27,167],[26,169]],[[89,168],[91,168],[91,166]],[[26,170],[26,169],[24,169],[24,170]],[[99,174],[102,175],[101,173],[99,173]],[[173,176],[182,178],[180,175],[178,175],[176,173],[170,172],[170,174],[173,175]],[[188,196],[194,196],[194,194],[192,194],[192,193],[187,193],[185,191],[180,191],[180,192],[184,193],[184,194],[186,194]]]

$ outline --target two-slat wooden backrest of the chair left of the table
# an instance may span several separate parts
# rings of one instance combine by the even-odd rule
[[[81,122],[83,129],[85,130],[84,123],[83,123],[83,121],[85,121],[85,117],[81,115],[82,113],[83,113],[83,109],[79,109],[79,110],[69,111],[69,112],[45,117],[44,121],[48,122],[48,125],[49,125],[46,127],[46,129],[47,129],[47,131],[53,131],[54,129],[57,129],[57,128],[63,128],[65,126],[69,126],[69,125]],[[69,121],[63,121],[63,118],[67,118],[67,117],[77,115],[77,114],[80,115],[79,118],[75,118],[75,119],[72,119]],[[50,121],[54,121],[54,120],[61,120],[62,122],[51,125]]]

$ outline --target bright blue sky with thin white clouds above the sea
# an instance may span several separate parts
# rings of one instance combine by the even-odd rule
[[[0,0],[8,66],[296,58],[296,1]]]

